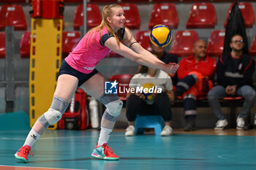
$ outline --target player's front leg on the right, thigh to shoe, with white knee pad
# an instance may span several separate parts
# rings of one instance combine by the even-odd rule
[[[107,143],[116,123],[116,117],[121,112],[123,103],[118,96],[105,96],[105,81],[102,74],[98,73],[81,85],[81,88],[83,88],[86,93],[97,98],[107,108],[102,116],[99,140],[91,155],[105,160],[118,160],[119,157],[107,146]]]

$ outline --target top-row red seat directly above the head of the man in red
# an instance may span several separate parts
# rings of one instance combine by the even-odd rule
[[[194,3],[189,12],[187,28],[214,28],[217,21],[214,4]]]

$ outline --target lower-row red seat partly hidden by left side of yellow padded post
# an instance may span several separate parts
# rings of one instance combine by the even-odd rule
[[[30,57],[31,32],[24,32],[20,40],[20,58]]]

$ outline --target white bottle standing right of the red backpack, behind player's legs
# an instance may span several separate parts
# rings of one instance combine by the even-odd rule
[[[97,100],[95,98],[90,98],[89,109],[91,116],[91,128],[99,128],[99,110]]]

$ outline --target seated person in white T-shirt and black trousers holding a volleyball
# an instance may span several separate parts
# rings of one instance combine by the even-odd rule
[[[132,77],[129,88],[142,87],[145,83],[154,84],[155,88],[161,88],[162,93],[153,93],[152,100],[146,100],[143,93],[127,94],[127,120],[128,128],[125,136],[135,135],[135,119],[137,115],[162,115],[165,120],[161,136],[170,136],[173,129],[170,127],[171,120],[171,101],[174,100],[173,83],[170,76],[158,69],[147,66],[140,66],[140,71]]]

